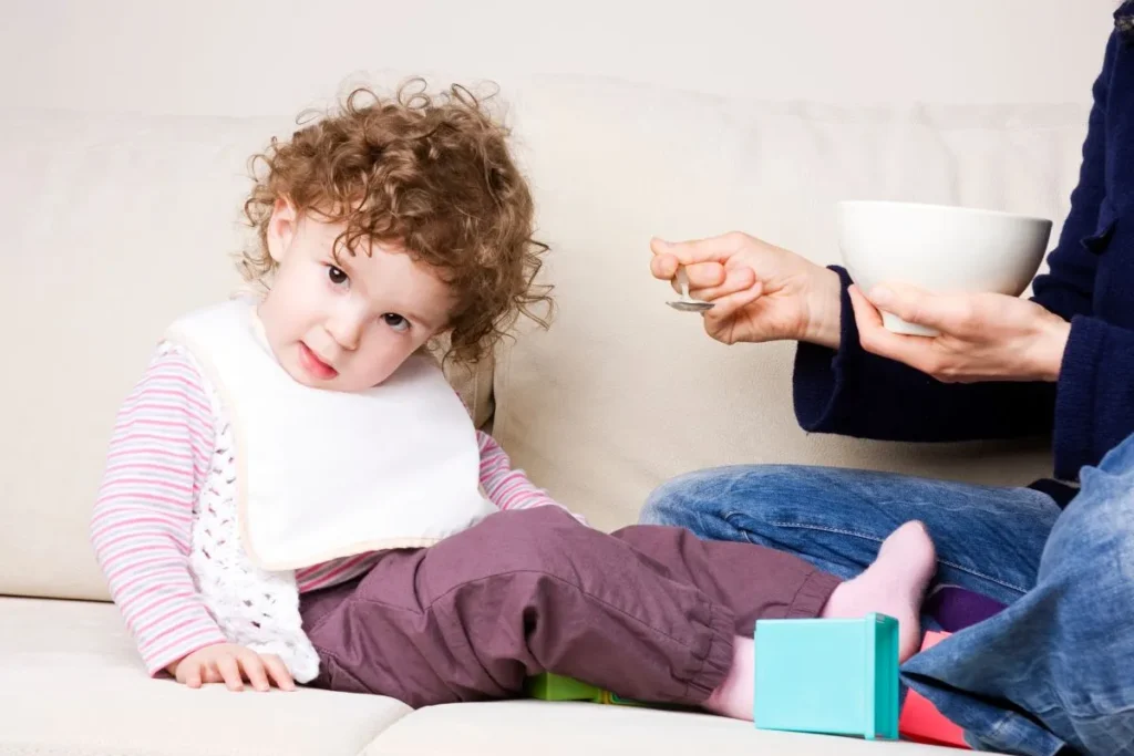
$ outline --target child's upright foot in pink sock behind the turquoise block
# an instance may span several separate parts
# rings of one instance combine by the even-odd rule
[[[866,571],[835,589],[821,617],[889,614],[898,620],[898,659],[904,662],[917,653],[922,598],[936,568],[937,551],[925,526],[906,523],[882,542]]]

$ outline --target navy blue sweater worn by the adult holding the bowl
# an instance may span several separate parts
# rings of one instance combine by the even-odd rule
[[[801,345],[795,411],[806,431],[890,441],[1052,435],[1074,481],[1134,433],[1134,3],[1116,14],[1072,207],[1034,300],[1070,321],[1057,383],[946,384],[864,351],[843,278],[837,352]],[[1125,16],[1123,15],[1125,14]],[[1124,27],[1125,22],[1125,27]],[[1046,485],[1061,503],[1070,493]]]

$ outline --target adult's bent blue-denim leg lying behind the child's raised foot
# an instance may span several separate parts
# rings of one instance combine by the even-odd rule
[[[919,520],[937,546],[940,583],[1012,603],[1035,584],[1059,512],[1031,489],[768,465],[675,478],[650,496],[641,521],[787,551],[850,578],[895,528]]]

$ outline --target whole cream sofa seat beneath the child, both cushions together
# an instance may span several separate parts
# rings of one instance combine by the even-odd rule
[[[60,756],[874,753],[854,739],[620,706],[524,700],[413,712],[391,698],[306,688],[191,690],[146,677],[112,604],[36,598],[0,598],[0,753]]]

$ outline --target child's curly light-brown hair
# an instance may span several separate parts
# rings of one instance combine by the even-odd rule
[[[387,99],[361,87],[338,112],[273,138],[249,161],[244,214],[259,241],[243,255],[244,278],[269,284],[268,223],[287,198],[299,213],[346,223],[337,252],[391,244],[439,271],[455,298],[446,358],[479,362],[519,314],[545,328],[533,308],[551,312],[551,287],[534,283],[548,246],[533,238],[532,194],[508,129],[484,107],[491,96],[460,85],[430,95],[422,79]]]

